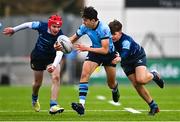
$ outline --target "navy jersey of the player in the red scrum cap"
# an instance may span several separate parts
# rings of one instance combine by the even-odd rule
[[[39,37],[37,39],[35,48],[33,52],[39,58],[45,58],[47,55],[56,55],[56,50],[54,49],[54,43],[57,41],[59,35],[63,35],[60,30],[56,36],[48,32],[47,22],[32,22],[32,29],[39,32]]]

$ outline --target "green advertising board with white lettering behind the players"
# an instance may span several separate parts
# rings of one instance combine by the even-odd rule
[[[147,60],[148,69],[157,70],[166,84],[180,84],[180,58],[151,58]],[[129,83],[120,65],[116,67],[117,81]],[[91,83],[106,83],[106,73],[104,68],[99,67],[93,73]]]

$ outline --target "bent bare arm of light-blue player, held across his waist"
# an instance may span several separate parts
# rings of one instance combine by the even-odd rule
[[[75,47],[79,51],[90,51],[94,53],[99,53],[99,54],[107,54],[109,51],[109,39],[103,39],[101,41],[102,47],[100,48],[92,48],[92,47],[87,47],[82,44],[77,44]]]

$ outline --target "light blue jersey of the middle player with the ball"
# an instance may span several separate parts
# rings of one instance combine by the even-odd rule
[[[81,37],[85,34],[87,34],[91,39],[93,48],[101,48],[101,41],[103,39],[109,39],[109,53],[114,52],[115,48],[111,38],[111,31],[108,25],[99,21],[97,27],[95,29],[91,29],[82,24],[77,30],[76,35]]]

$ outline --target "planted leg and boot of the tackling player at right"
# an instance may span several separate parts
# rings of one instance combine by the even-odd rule
[[[144,85],[137,82],[136,75],[134,73],[130,74],[128,78],[132,82],[134,88],[136,89],[138,94],[141,96],[141,98],[144,99],[146,103],[149,105],[150,107],[149,115],[155,115],[155,113],[158,113],[159,112],[158,105],[152,99],[149,91],[144,87]]]

